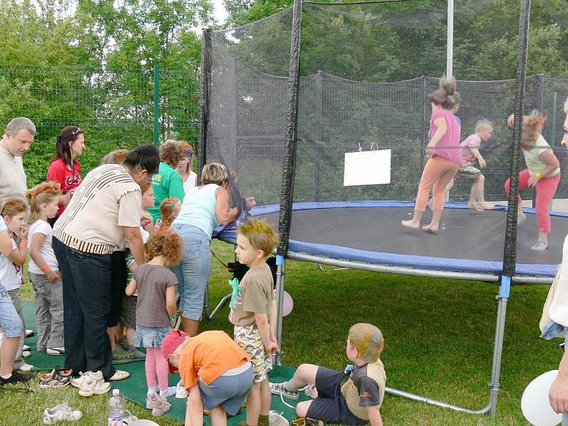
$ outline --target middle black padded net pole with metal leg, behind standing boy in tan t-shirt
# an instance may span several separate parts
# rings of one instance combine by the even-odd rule
[[[284,135],[284,163],[282,168],[282,185],[280,187],[280,215],[278,217],[278,234],[280,242],[276,249],[276,259],[281,256],[281,263],[288,253],[290,239],[290,223],[292,220],[292,202],[294,199],[294,177],[296,165],[297,142],[297,107],[300,89],[300,39],[302,30],[302,0],[294,0],[292,18],[292,37],[290,43],[290,67],[288,69],[288,94],[286,104],[286,129]],[[282,266],[278,271],[282,272]],[[277,271],[277,273],[278,273]],[[282,308],[284,297],[284,277],[276,276],[277,324],[276,336],[278,346],[282,348]],[[280,355],[276,356],[280,363]]]

